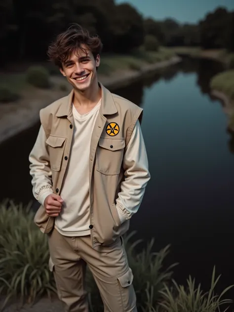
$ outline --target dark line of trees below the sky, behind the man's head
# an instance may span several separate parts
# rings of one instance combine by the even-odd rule
[[[197,24],[145,19],[114,0],[0,0],[2,60],[44,60],[48,44],[71,24],[98,34],[104,52],[129,53],[154,38],[164,46],[201,46],[234,51],[234,11],[219,7]]]

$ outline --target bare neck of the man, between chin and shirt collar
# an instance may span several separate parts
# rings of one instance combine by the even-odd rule
[[[87,90],[80,91],[74,88],[73,103],[75,106],[90,106],[97,104],[101,98],[101,88],[95,81]]]

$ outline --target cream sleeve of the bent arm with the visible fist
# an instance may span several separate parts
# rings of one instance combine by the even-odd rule
[[[29,168],[32,176],[33,195],[42,205],[45,197],[53,193],[49,153],[45,141],[46,135],[43,127],[40,126],[36,143],[29,155]]]

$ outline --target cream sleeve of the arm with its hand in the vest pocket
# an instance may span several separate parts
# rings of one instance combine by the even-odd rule
[[[136,213],[150,180],[148,157],[139,120],[133,129],[123,157],[125,179],[121,183],[116,199],[120,222],[123,223]]]

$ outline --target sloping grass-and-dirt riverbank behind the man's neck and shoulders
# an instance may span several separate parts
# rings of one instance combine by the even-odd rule
[[[110,74],[110,72],[105,74],[105,71],[100,71],[99,80],[104,86],[114,92],[115,89],[131,84],[148,73],[180,61],[180,57],[173,56],[168,60],[157,61],[155,63],[143,62],[143,65],[138,69],[136,69],[136,66],[135,69],[122,68],[116,70],[113,74]],[[110,67],[110,63],[108,66]],[[0,105],[0,143],[34,125],[39,121],[40,109],[60,97],[66,96],[70,91],[70,85],[62,76],[51,76],[51,81],[53,83],[51,89],[32,89],[29,87],[22,91],[23,97],[16,103],[12,102]]]

